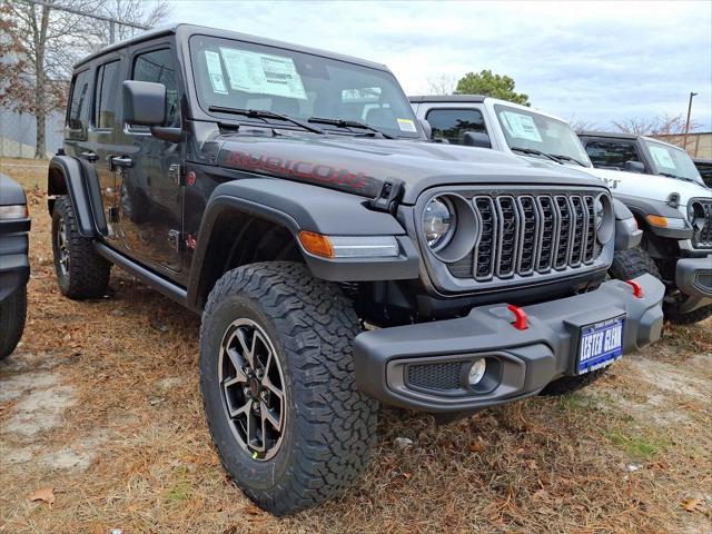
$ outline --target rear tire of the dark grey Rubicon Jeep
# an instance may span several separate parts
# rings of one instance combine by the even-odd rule
[[[65,274],[60,265],[59,233],[66,225],[69,268]],[[67,196],[59,197],[52,210],[52,253],[59,288],[71,299],[99,298],[109,285],[111,264],[93,249],[91,239],[82,237],[77,227],[77,216]]]

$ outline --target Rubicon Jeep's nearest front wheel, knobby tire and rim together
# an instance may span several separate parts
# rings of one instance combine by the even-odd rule
[[[239,267],[210,293],[200,328],[206,418],[222,466],[261,508],[314,506],[367,466],[378,405],[356,387],[358,333],[338,287],[300,264]]]

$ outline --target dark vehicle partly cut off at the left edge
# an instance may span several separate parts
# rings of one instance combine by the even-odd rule
[[[29,231],[24,191],[0,174],[0,359],[12,354],[24,330]]]

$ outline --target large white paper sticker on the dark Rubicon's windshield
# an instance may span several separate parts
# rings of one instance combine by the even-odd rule
[[[230,88],[306,100],[301,77],[291,58],[220,47]]]

